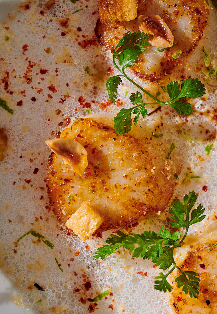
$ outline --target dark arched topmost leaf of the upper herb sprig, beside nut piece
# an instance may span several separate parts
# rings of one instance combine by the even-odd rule
[[[113,56],[119,59],[122,52],[126,49],[135,48],[140,50],[140,54],[146,50],[146,46],[149,45],[149,35],[141,33],[140,31],[131,33],[127,32],[122,39],[119,41],[114,49]]]

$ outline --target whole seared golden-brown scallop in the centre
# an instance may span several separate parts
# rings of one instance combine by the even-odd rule
[[[123,136],[113,125],[113,119],[84,118],[60,133],[60,138],[83,145],[88,159],[78,175],[61,157],[49,156],[47,191],[62,226],[84,202],[94,205],[104,219],[100,231],[167,207],[176,185],[173,175],[180,173],[174,152],[166,159],[169,147],[146,127]]]

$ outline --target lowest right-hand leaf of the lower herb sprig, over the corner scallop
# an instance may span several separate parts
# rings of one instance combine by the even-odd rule
[[[199,294],[198,290],[200,282],[198,277],[198,273],[182,271],[182,275],[177,277],[175,282],[177,283],[178,288],[183,286],[182,291],[184,291],[185,294],[189,293],[191,298],[197,298]]]

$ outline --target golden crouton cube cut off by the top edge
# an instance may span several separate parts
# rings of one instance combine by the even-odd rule
[[[98,0],[100,22],[131,21],[137,17],[137,0]]]

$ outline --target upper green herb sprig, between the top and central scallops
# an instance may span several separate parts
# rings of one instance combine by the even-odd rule
[[[114,119],[114,127],[117,134],[125,135],[131,130],[133,126],[131,119],[132,112],[136,115],[133,120],[134,126],[136,126],[140,114],[143,118],[145,118],[148,115],[148,111],[145,108],[146,105],[171,105],[179,114],[189,115],[193,111],[191,104],[188,102],[183,103],[178,101],[178,99],[183,97],[197,98],[205,94],[204,85],[198,81],[198,78],[187,78],[182,82],[181,86],[177,81],[168,84],[167,88],[160,85],[169,95],[170,100],[168,101],[159,100],[147,90],[143,89],[140,85],[133,82],[124,70],[128,67],[132,67],[136,63],[138,56],[146,50],[146,46],[149,45],[148,40],[149,35],[145,33],[141,33],[140,31],[131,33],[128,31],[113,51],[113,63],[121,75],[112,76],[108,78],[106,82],[106,90],[111,102],[114,105],[116,104],[117,87],[122,83],[122,77],[127,78],[128,81],[137,86],[141,91],[154,100],[154,102],[143,102],[142,94],[140,92],[137,92],[136,94],[132,93],[130,101],[133,105],[137,106],[129,109],[121,109],[121,111],[117,114]],[[115,61],[116,59],[118,60],[118,64]]]

